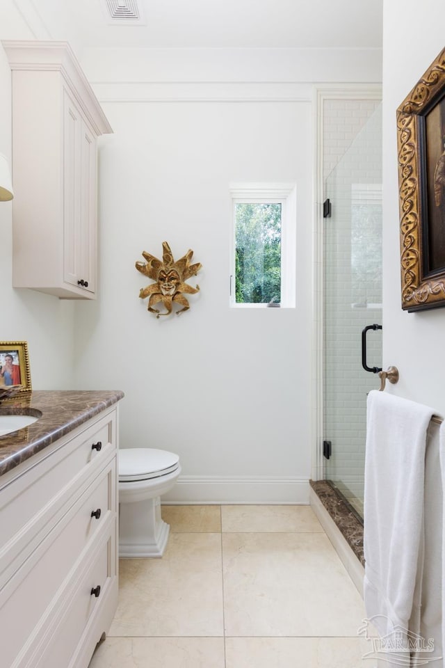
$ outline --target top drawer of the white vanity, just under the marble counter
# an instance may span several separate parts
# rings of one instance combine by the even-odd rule
[[[101,420],[95,420],[90,427],[83,427],[76,436],[61,439],[42,451],[31,468],[27,463],[25,475],[20,475],[17,467],[13,479],[6,484],[3,482],[0,557],[14,548],[13,557],[16,558],[25,531],[26,544],[29,544],[33,535],[44,531],[51,520],[57,519],[54,518],[56,512],[63,514],[63,504],[69,502],[82,479],[94,474],[113,455],[115,424],[115,412],[112,411]]]

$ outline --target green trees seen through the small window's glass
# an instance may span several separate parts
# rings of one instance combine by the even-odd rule
[[[281,203],[235,204],[235,301],[281,301]]]

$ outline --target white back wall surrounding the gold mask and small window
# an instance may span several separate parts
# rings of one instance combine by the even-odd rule
[[[76,303],[77,383],[124,390],[122,445],[178,452],[183,476],[198,477],[182,478],[181,500],[307,500],[309,100],[104,111],[115,134],[100,154],[99,300]],[[229,184],[245,181],[296,182],[295,309],[229,308]],[[188,283],[202,292],[156,319],[134,264],[164,240],[175,258],[194,250],[203,269]]]

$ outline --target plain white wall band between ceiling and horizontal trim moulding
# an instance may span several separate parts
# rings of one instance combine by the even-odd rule
[[[380,49],[84,49],[95,82],[380,82]]]

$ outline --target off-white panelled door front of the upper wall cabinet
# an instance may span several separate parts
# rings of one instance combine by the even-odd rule
[[[95,292],[96,146],[81,111],[64,90],[64,280]]]

